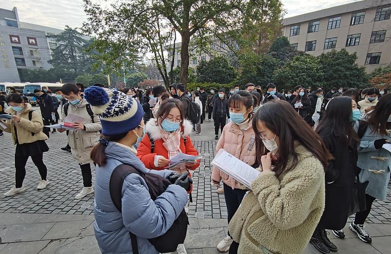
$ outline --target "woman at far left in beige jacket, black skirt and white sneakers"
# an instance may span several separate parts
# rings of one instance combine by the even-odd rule
[[[28,157],[38,168],[41,175],[37,189],[44,189],[49,181],[46,179],[47,169],[42,161],[43,153],[49,151],[45,140],[48,137],[42,132],[42,116],[31,109],[31,105],[23,101],[17,93],[8,94],[6,102],[9,105],[5,113],[11,114],[12,119],[1,121],[0,129],[12,135],[15,150],[15,186],[4,193],[4,196],[13,196],[26,190],[23,186],[26,175]],[[30,117],[31,116],[31,117]],[[5,126],[5,128],[3,128]]]

